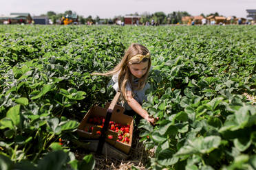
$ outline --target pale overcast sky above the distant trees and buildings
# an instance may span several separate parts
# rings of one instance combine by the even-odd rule
[[[218,12],[224,16],[246,18],[246,9],[256,9],[256,0],[0,0],[0,15],[11,12],[28,12],[32,16],[46,14],[47,11],[63,13],[72,10],[85,17],[100,18],[138,12],[186,11],[196,16]]]

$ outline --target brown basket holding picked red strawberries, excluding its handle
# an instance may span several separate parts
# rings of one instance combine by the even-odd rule
[[[101,128],[94,126],[94,129],[92,132],[86,132],[85,129],[92,126],[92,123],[88,122],[88,119],[90,117],[106,117],[107,114],[107,108],[110,107],[110,103],[107,103],[105,105],[105,108],[101,108],[100,106],[92,106],[92,108],[85,114],[85,117],[83,117],[83,120],[81,121],[80,125],[78,126],[77,132],[78,136],[81,138],[81,141],[89,142],[88,147],[86,149],[89,149],[91,151],[96,151],[98,147],[98,140],[100,135],[97,134],[97,131],[100,131]],[[102,154],[106,154],[109,156],[119,156],[120,158],[127,158],[127,154],[129,154],[129,151],[131,149],[131,142],[133,137],[133,130],[134,130],[134,120],[132,117],[123,114],[125,108],[123,108],[120,105],[114,105],[114,109],[111,113],[110,121],[115,121],[116,123],[120,123],[122,125],[130,125],[130,137],[129,137],[129,143],[122,143],[119,141],[116,141],[118,138],[118,133],[114,132],[112,130],[106,131],[106,136],[111,134],[113,136],[112,139],[105,138],[105,144],[103,147]],[[115,154],[116,153],[116,154]]]

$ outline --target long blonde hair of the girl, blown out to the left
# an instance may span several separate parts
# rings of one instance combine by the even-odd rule
[[[135,58],[135,60],[133,60],[132,58],[136,55],[147,56],[147,57],[140,58],[140,59]],[[134,84],[134,82],[132,81],[132,74],[131,74],[131,71],[129,70],[128,65],[140,64],[141,62],[147,62],[147,61],[148,61],[147,72],[145,73],[145,75],[140,77],[140,79],[138,80],[138,84]],[[113,70],[108,71],[107,73],[92,73],[92,75],[110,76],[120,71],[118,75],[118,86],[122,94],[122,99],[125,99],[125,101],[127,101],[127,95],[126,95],[127,83],[129,82],[131,84],[132,90],[140,90],[144,88],[147,81],[147,77],[149,75],[150,67],[151,67],[151,56],[149,54],[149,50],[143,45],[133,43],[128,47],[127,51],[125,51],[125,56],[123,56],[122,60],[119,62],[118,65],[114,67]]]

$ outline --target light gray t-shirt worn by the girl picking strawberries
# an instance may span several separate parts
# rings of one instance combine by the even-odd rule
[[[107,86],[112,86],[116,91],[119,90],[118,86],[118,75],[119,72],[112,76],[111,80],[109,81],[109,84]],[[133,82],[134,84],[138,83],[139,78],[134,78]],[[140,105],[142,105],[143,101],[147,101],[147,95],[145,95],[146,90],[149,88],[149,84],[145,84],[145,87],[141,90],[133,90],[134,93],[134,99],[138,101]],[[126,90],[131,91],[131,84],[127,82],[126,84]],[[131,110],[131,107],[125,102],[125,110]]]

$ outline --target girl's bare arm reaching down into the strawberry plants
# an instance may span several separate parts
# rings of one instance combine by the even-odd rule
[[[136,99],[132,97],[131,91],[127,90],[126,95],[127,95],[127,104],[132,108],[132,110],[134,110],[137,114],[140,114],[142,118],[146,119],[147,121],[149,121],[154,125],[157,119],[150,117],[147,110],[142,109],[142,106],[140,106],[138,101],[136,101]]]

